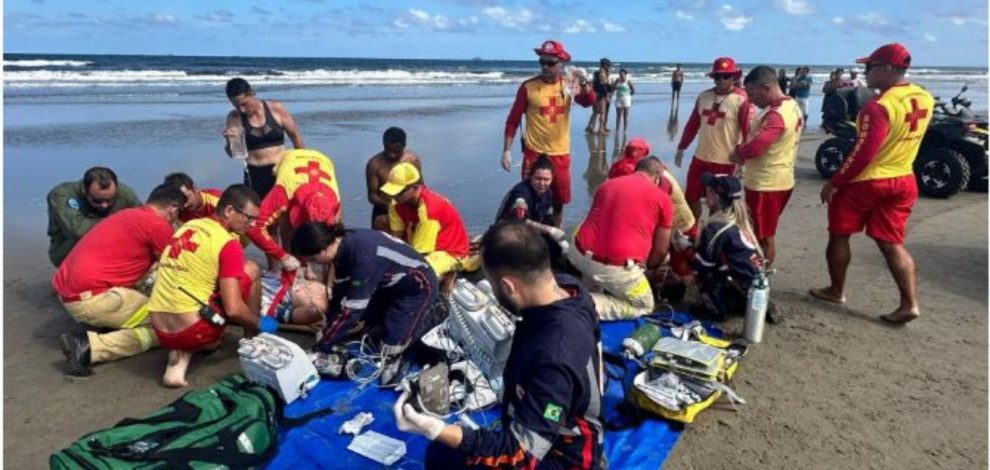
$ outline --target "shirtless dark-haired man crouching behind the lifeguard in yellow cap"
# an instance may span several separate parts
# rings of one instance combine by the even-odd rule
[[[382,184],[388,179],[388,174],[395,165],[409,162],[422,170],[419,156],[406,148],[406,131],[398,127],[385,129],[382,135],[384,150],[368,160],[364,168],[365,182],[368,186],[368,202],[371,203],[371,228],[388,232],[388,206],[392,198],[381,191]]]

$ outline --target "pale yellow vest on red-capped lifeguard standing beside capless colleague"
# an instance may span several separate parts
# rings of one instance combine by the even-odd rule
[[[714,89],[698,95],[698,149],[694,158],[698,160],[729,164],[729,154],[742,143],[742,125],[739,110],[749,106],[746,92],[734,88],[727,95],[717,95]]]

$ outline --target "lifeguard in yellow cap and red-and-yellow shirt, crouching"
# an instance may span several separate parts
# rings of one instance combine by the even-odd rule
[[[392,168],[382,192],[392,196],[392,235],[421,253],[438,278],[459,271],[468,256],[467,229],[450,200],[427,188],[411,163]]]

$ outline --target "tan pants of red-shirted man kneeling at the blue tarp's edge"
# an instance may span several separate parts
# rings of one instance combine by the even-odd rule
[[[611,266],[582,254],[572,242],[567,259],[581,272],[602,320],[629,320],[653,312],[653,289],[639,266]],[[604,291],[604,292],[600,292]]]

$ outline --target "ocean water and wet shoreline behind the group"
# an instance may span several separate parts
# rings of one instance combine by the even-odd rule
[[[573,65],[589,71],[596,66]],[[574,202],[565,209],[565,224],[580,222],[626,137],[646,138],[653,152],[669,161],[695,96],[711,86],[708,64],[684,64],[686,81],[675,108],[671,64],[617,66],[629,70],[636,86],[630,129],[626,136],[587,136],[590,110],[574,107]],[[788,73],[796,67],[774,66]],[[809,127],[820,122],[821,84],[835,67],[811,65]],[[409,148],[423,159],[431,186],[455,203],[470,231],[479,233],[518,181],[518,168],[510,174],[498,166],[505,115],[518,84],[538,66],[535,60],[4,54],[3,70],[5,264],[16,267],[47,263],[45,195],[90,166],[113,168],[142,197],[172,171],[189,173],[201,187],[240,181],[241,167],[224,154],[221,136],[231,108],[224,84],[235,76],[251,82],[262,99],[282,101],[306,146],[334,160],[347,224],[368,224],[364,165],[381,149],[384,129],[399,126],[409,134]],[[986,69],[919,67],[910,79],[944,98],[966,84],[974,108],[986,110]],[[610,121],[612,116],[614,110]]]

